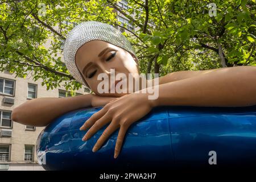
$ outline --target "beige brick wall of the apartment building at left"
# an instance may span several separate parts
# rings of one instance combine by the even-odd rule
[[[7,71],[0,72],[1,78],[8,78],[15,81],[14,96],[8,96],[14,98],[14,104],[3,103],[3,97],[6,94],[0,93],[0,110],[12,111],[15,107],[28,101],[28,83],[37,85],[37,98],[39,97],[59,97],[59,89],[65,90],[64,87],[56,88],[53,90],[47,90],[46,86],[42,86],[42,79],[36,82],[32,80],[31,73],[26,78],[15,78],[15,74],[9,73]],[[61,84],[60,84],[61,85]],[[84,92],[84,87],[82,89],[76,90],[77,93],[87,94]],[[40,117],[40,115],[38,116]],[[36,118],[35,118],[36,119]],[[0,130],[2,128],[0,127]],[[35,154],[36,139],[44,127],[36,127],[35,131],[26,130],[26,126],[20,123],[13,122],[12,136],[11,137],[0,137],[0,144],[11,144],[11,155],[10,163],[31,163],[24,162],[24,147],[25,145],[34,145],[34,163],[37,163],[37,158]],[[1,163],[1,162],[0,162]]]

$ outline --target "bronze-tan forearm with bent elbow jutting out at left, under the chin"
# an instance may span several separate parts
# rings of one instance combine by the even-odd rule
[[[11,119],[23,125],[46,126],[54,118],[71,110],[89,107],[92,94],[67,98],[35,98],[15,107]]]

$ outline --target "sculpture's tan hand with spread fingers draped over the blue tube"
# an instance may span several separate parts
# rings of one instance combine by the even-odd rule
[[[106,104],[100,111],[94,113],[84,125],[82,125],[80,130],[90,128],[82,140],[88,140],[97,133],[98,130],[110,122],[109,126],[93,147],[93,152],[96,152],[102,144],[104,144],[105,140],[120,127],[114,151],[114,158],[117,158],[127,129],[132,123],[149,113],[152,107],[152,100],[148,100],[147,93],[131,93],[116,98]]]

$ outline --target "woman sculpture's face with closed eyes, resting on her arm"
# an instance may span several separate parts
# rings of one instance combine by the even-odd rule
[[[129,92],[129,73],[135,73],[135,75],[130,75],[133,77],[133,82],[135,81],[135,78],[138,79],[137,75],[139,75],[139,66],[137,61],[135,61],[135,57],[125,49],[102,40],[92,40],[81,46],[76,52],[75,61],[77,68],[79,68],[81,75],[84,76],[84,79],[90,86],[90,89],[100,96],[121,97]],[[112,85],[110,85],[110,69],[114,69],[115,76],[118,73],[125,74],[127,78],[126,93],[117,93],[115,91],[114,93],[110,93],[110,88],[114,86],[114,82],[121,80],[117,79],[111,83]],[[99,93],[100,90],[98,90],[98,84],[102,82],[102,79],[97,80],[97,77],[100,73],[105,73],[109,78],[108,93]],[[104,85],[100,86],[100,88],[104,89]]]

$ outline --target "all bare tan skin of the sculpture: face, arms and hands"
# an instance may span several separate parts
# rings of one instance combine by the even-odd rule
[[[112,49],[105,52],[102,57],[98,57],[98,54],[106,47]],[[111,56],[112,58],[109,59]],[[85,72],[82,72],[85,65],[90,61],[92,65]],[[129,126],[149,113],[155,106],[224,107],[256,105],[256,67],[246,66],[169,73],[159,78],[159,85],[154,85],[159,88],[158,99],[148,100],[148,94],[139,93],[139,91],[131,94],[99,94],[97,92],[99,83],[97,75],[99,73],[109,75],[110,68],[114,68],[116,73],[139,73],[137,60],[124,49],[100,40],[93,40],[84,44],[77,51],[76,64],[95,95],[34,99],[33,102],[28,101],[30,103],[26,102],[20,105],[19,108],[17,107],[16,110],[14,109],[15,114],[12,114],[14,121],[27,125],[32,123],[34,126],[44,126],[51,122],[53,118],[67,111],[82,107],[104,106],[100,111],[93,114],[80,130],[89,129],[83,138],[83,140],[88,140],[109,123],[109,126],[93,147],[93,151],[96,152],[110,135],[119,128],[114,151],[114,158],[117,158]],[[47,107],[52,109],[47,109]],[[31,116],[31,113],[34,117]],[[38,118],[38,115],[43,116],[44,119],[39,119],[35,123],[31,118]]]

